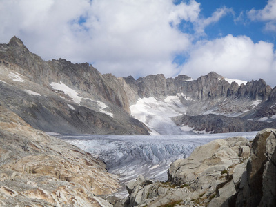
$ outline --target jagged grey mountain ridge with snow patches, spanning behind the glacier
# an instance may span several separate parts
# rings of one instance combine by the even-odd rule
[[[158,134],[166,121],[173,124],[173,117],[208,114],[239,117],[256,126],[260,125],[257,121],[264,121],[276,127],[276,87],[266,85],[263,79],[245,84],[216,72],[196,80],[186,75],[166,78],[159,74],[139,79],[102,75],[88,63],[43,61],[15,36],[8,44],[0,44],[0,72],[0,103],[44,131],[149,135],[150,131]],[[155,108],[147,102],[152,97],[157,101]],[[143,107],[148,111],[143,109],[137,114],[131,110],[139,100],[144,100]],[[161,106],[167,108],[164,115]],[[159,123],[165,116],[170,120]],[[157,128],[149,124],[154,119]],[[181,131],[184,126],[198,128],[193,121],[188,125],[184,121],[170,132]]]

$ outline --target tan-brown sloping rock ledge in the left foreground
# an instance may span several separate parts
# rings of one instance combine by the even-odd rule
[[[111,206],[96,195],[117,188],[102,161],[0,106],[0,206]]]

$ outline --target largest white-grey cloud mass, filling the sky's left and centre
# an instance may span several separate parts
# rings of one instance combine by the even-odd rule
[[[117,77],[164,73],[176,75],[172,63],[195,37],[179,31],[189,21],[200,32],[229,12],[199,17],[200,3],[172,0],[0,0],[0,41],[17,35],[43,59],[65,58],[93,63]]]

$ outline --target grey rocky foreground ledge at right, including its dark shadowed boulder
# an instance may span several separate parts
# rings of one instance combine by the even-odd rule
[[[253,142],[217,139],[171,164],[167,182],[141,175],[127,185],[125,206],[276,206],[276,130]]]

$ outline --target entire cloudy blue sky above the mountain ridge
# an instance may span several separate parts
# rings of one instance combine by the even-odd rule
[[[135,78],[276,81],[276,0],[0,0],[0,43]]]

